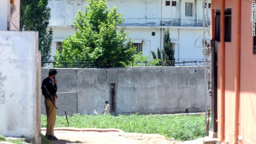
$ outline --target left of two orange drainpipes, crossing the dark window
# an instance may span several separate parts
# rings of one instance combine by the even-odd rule
[[[221,1],[220,8],[220,45],[221,45],[221,77],[220,77],[220,142],[225,138],[225,0]]]

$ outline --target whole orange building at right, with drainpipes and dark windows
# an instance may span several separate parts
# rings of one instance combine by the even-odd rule
[[[224,144],[256,144],[255,8],[212,1],[212,131]]]

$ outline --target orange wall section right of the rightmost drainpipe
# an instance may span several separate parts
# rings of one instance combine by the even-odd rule
[[[253,54],[252,0],[241,4],[240,136],[243,144],[256,143],[256,54]]]

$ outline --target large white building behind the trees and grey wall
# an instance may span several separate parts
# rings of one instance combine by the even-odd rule
[[[74,16],[78,10],[84,10],[86,4],[87,0],[49,0],[49,27],[53,28],[52,56],[62,40],[76,31]],[[123,24],[129,37],[134,39],[134,45],[142,47],[143,54],[150,55],[150,59],[150,51],[157,53],[157,48],[162,50],[166,28],[170,30],[176,60],[203,59],[202,48],[195,46],[196,38],[203,30],[202,0],[107,0],[107,5],[116,6],[118,12],[124,13],[126,20]],[[209,24],[210,0],[206,6]],[[210,40],[210,36],[207,35],[207,39]],[[202,37],[196,45],[202,46]]]

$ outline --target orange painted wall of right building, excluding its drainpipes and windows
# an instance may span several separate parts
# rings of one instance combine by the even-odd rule
[[[238,134],[242,136],[243,144],[256,143],[256,54],[253,54],[253,37],[251,18],[252,0],[241,0],[241,54],[240,54],[240,109]],[[225,98],[221,96],[221,44],[218,43],[218,138],[220,138],[221,101],[224,106],[224,141],[234,142],[235,130],[235,79],[236,79],[236,36],[237,5],[236,0],[225,0],[225,8],[232,8],[231,42],[225,42]],[[212,9],[220,9],[221,0],[212,0]],[[214,18],[214,17],[211,17]],[[215,24],[212,24],[214,30]],[[214,32],[213,32],[214,33]],[[213,37],[212,37],[213,38]]]

